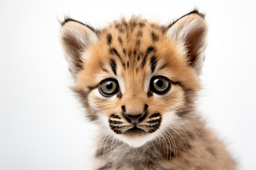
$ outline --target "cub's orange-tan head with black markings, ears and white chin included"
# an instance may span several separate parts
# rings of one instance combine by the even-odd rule
[[[133,147],[174,129],[193,111],[206,32],[196,10],[169,26],[134,17],[96,30],[66,19],[61,40],[88,118]]]

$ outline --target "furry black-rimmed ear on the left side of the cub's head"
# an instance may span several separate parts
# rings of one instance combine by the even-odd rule
[[[66,59],[72,75],[83,69],[83,56],[88,47],[94,43],[98,36],[97,31],[70,18],[62,22],[61,41],[65,50]]]

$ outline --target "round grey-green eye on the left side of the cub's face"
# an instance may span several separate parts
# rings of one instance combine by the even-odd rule
[[[114,95],[118,91],[117,81],[115,79],[104,80],[99,86],[99,91],[106,96]]]

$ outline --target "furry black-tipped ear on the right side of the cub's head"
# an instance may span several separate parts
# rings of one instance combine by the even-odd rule
[[[168,27],[169,37],[184,45],[189,64],[200,74],[204,60],[207,24],[204,15],[192,11],[173,22]]]

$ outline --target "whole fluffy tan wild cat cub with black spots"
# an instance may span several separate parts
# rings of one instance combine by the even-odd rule
[[[206,33],[197,10],[168,26],[62,23],[73,90],[101,127],[94,170],[235,169],[195,109]]]

